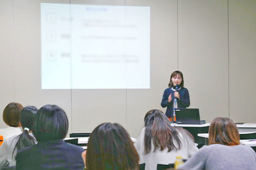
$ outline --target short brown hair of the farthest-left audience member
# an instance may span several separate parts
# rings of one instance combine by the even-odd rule
[[[20,126],[20,114],[23,105],[18,102],[9,103],[3,112],[3,119],[5,123],[12,127]]]

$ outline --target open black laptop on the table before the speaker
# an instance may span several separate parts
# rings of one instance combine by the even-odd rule
[[[175,108],[177,124],[204,124],[200,120],[199,108]]]

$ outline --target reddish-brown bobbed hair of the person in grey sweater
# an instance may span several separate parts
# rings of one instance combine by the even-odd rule
[[[209,128],[208,144],[240,144],[240,136],[234,121],[227,117],[214,118]]]

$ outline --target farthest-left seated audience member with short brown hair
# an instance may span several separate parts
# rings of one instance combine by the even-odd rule
[[[0,135],[4,137],[4,141],[5,137],[10,137],[22,133],[20,128],[20,114],[22,108],[23,105],[17,102],[11,102],[5,107],[3,112],[3,119],[5,123],[9,125],[9,127],[0,129]]]

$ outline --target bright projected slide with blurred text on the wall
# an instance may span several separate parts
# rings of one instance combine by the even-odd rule
[[[150,88],[150,7],[41,3],[42,89]]]

